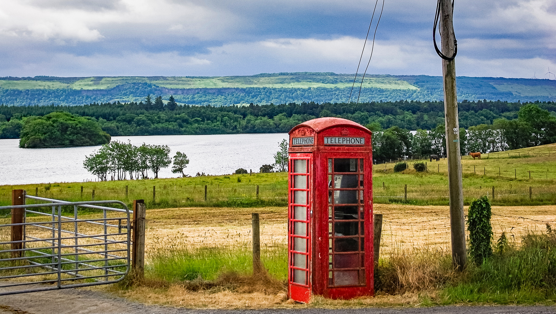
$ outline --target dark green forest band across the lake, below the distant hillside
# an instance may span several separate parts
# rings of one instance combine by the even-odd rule
[[[177,106],[162,97],[145,102],[91,103],[84,106],[0,105],[0,138],[19,138],[22,119],[63,111],[95,118],[111,136],[165,134],[226,134],[288,132],[301,122],[316,117],[342,117],[380,130],[433,129],[444,125],[441,101],[395,101],[366,103],[288,103],[248,106]],[[518,117],[525,103],[506,101],[463,101],[459,103],[462,128],[492,124],[497,118]],[[534,102],[556,116],[556,102]]]

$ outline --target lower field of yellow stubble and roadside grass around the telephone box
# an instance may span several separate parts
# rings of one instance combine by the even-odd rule
[[[535,289],[529,295],[514,291],[515,296],[505,291],[482,291],[468,301],[461,300],[462,295],[469,297],[465,290],[469,286],[448,270],[448,206],[377,204],[374,210],[384,215],[380,270],[391,270],[390,263],[399,267],[393,279],[400,285],[397,292],[383,291],[376,297],[348,301],[316,297],[309,305],[287,302],[283,284],[287,276],[286,207],[151,210],[147,213],[146,281],[125,290],[108,290],[140,302],[191,308],[554,303]],[[261,260],[270,276],[278,280],[270,282],[275,286],[269,287],[264,280],[264,285],[259,285],[257,278],[251,277],[252,212],[260,213]],[[543,233],[544,224],[554,221],[553,206],[493,207],[494,238],[507,232],[510,245],[515,247],[521,245],[523,236]],[[476,271],[470,265],[465,276],[472,277]],[[444,276],[448,277],[442,279]],[[450,281],[455,284],[450,285]]]

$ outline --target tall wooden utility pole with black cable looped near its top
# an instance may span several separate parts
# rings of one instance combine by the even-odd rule
[[[440,1],[440,35],[442,74],[444,83],[444,116],[446,118],[446,153],[448,155],[448,189],[450,192],[451,247],[454,265],[463,270],[465,252],[465,220],[463,214],[463,186],[461,185],[461,153],[459,148],[458,97],[455,86],[456,42],[450,0]]]

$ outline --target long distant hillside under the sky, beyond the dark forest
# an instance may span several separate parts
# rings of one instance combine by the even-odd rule
[[[13,106],[78,105],[140,101],[147,94],[173,94],[181,104],[229,106],[243,103],[437,101],[443,99],[441,77],[367,75],[359,95],[359,78],[331,72],[261,73],[226,77],[3,77],[0,103]],[[458,77],[460,101],[556,101],[556,80]],[[356,99],[356,98],[355,98]]]

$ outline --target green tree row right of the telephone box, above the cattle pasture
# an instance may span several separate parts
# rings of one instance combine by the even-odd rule
[[[373,160],[385,162],[405,158],[427,158],[430,154],[446,156],[445,127],[411,133],[407,129],[391,127],[380,129],[368,126],[373,132]],[[499,152],[508,149],[538,146],[556,142],[556,117],[537,104],[525,104],[518,118],[498,118],[492,124],[460,128],[462,155],[470,152]]]

